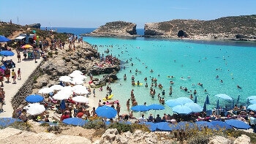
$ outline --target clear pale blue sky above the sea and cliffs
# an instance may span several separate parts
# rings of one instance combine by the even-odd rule
[[[173,19],[255,15],[255,7],[256,0],[0,0],[0,21],[97,28],[122,20],[143,28],[145,23]]]

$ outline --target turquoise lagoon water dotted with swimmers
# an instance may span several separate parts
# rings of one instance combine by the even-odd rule
[[[126,102],[130,98],[132,89],[138,105],[143,105],[144,102],[151,105],[159,104],[157,94],[162,96],[164,89],[165,100],[181,96],[189,98],[192,93],[180,89],[180,87],[187,87],[189,91],[197,91],[197,103],[202,107],[208,94],[211,104],[207,105],[207,109],[217,105],[217,97],[214,96],[216,94],[227,94],[235,99],[235,103],[240,95],[238,105],[246,105],[246,97],[256,95],[256,46],[243,46],[236,42],[232,45],[230,43],[225,45],[225,42],[221,42],[222,45],[219,42],[214,45],[214,42],[186,42],[143,37],[134,39],[83,37],[83,40],[91,45],[97,45],[101,55],[109,49],[109,54],[121,59],[121,70],[117,74],[118,81],[109,85],[113,89],[113,100],[118,99],[121,103],[121,113],[128,113]],[[104,53],[104,56],[106,55],[107,53]],[[136,74],[136,69],[141,73]],[[151,69],[154,72],[150,72]],[[127,75],[127,80],[124,80],[124,74]],[[139,80],[143,85],[132,86],[132,75],[135,76],[135,82]],[[175,78],[170,79],[167,76]],[[148,88],[145,87],[145,77],[148,78]],[[153,86],[156,89],[154,98],[149,94],[151,77],[156,77],[157,84],[161,83],[163,86],[162,89]],[[173,80],[173,85],[170,85],[170,80]],[[203,83],[203,87],[198,86],[197,83]],[[192,86],[193,84],[195,86]],[[169,96],[170,86],[173,87],[171,96]],[[241,89],[237,86],[241,86]],[[204,91],[205,89],[207,92]],[[221,107],[231,103],[220,99]],[[157,110],[157,112],[151,110],[147,113],[162,115],[173,112],[165,105],[165,110]],[[139,114],[137,113],[137,116]]]

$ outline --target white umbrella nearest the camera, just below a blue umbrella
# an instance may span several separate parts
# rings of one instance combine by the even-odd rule
[[[45,111],[45,106],[39,103],[33,103],[23,107],[23,109],[26,109],[26,113],[30,115],[39,115]]]

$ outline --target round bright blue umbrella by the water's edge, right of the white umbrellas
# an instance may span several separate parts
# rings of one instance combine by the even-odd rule
[[[95,110],[97,115],[102,118],[114,118],[116,117],[117,111],[113,107],[100,106]]]

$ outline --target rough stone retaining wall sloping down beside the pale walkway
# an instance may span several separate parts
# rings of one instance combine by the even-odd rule
[[[34,80],[37,79],[40,75],[40,67],[44,63],[44,61],[41,61],[41,63],[37,66],[36,69],[31,73],[31,75],[28,77],[25,83],[23,83],[23,86],[18,90],[18,93],[15,94],[15,96],[12,97],[12,107],[13,109],[17,109],[18,107],[26,106],[28,103],[25,101],[26,96],[32,93]]]

